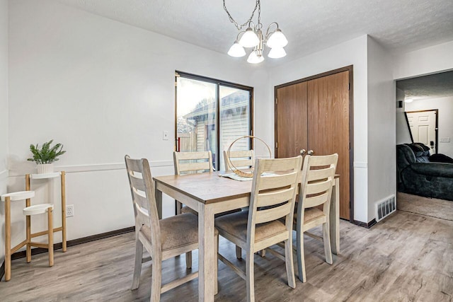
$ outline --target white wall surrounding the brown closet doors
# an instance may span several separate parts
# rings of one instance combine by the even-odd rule
[[[367,35],[270,69],[270,88],[263,102],[272,115],[267,115],[269,123],[263,125],[263,132],[274,132],[274,86],[349,65],[354,66],[354,219],[368,222]]]

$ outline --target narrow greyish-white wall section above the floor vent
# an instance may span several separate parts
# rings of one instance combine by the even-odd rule
[[[368,218],[374,204],[396,194],[395,84],[391,56],[368,37]]]

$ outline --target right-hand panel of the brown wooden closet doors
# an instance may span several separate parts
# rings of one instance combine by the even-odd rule
[[[338,153],[340,217],[350,217],[349,71],[308,81],[308,149],[314,155]]]

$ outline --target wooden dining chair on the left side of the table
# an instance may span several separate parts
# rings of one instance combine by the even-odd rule
[[[198,248],[198,218],[187,213],[160,219],[157,213],[151,170],[146,158],[132,159],[125,156],[127,176],[132,194],[135,217],[135,262],[132,289],[138,289],[142,271],[143,247],[152,260],[151,298],[159,301],[176,286],[198,277],[198,272],[162,285],[162,261]],[[218,240],[215,231],[214,240]],[[217,266],[214,268],[214,284],[217,293]]]

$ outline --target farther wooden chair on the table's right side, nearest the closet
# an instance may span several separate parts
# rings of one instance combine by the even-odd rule
[[[332,264],[329,209],[337,161],[337,153],[327,156],[306,155],[304,158],[297,214],[294,215],[294,226],[297,231],[297,268],[302,282],[306,281],[304,233],[324,242],[326,262],[329,265]],[[319,209],[321,205],[322,210]],[[322,238],[306,232],[321,225],[323,226]]]

